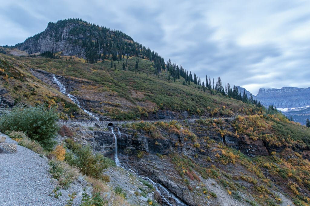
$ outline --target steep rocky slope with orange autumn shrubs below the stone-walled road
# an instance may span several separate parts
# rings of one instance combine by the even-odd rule
[[[82,144],[151,178],[188,205],[308,205],[310,130],[282,114],[136,122],[88,130]],[[82,129],[83,128],[83,129]],[[113,157],[114,158],[114,157]]]

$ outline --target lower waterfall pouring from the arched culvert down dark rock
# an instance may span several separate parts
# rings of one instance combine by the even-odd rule
[[[150,182],[153,185],[153,187],[155,187],[157,193],[161,196],[162,205],[186,206],[187,204],[185,204],[181,200],[179,200],[166,187],[162,186],[159,183],[154,182],[153,180],[151,180],[148,177],[140,176],[137,170],[135,170],[134,168],[131,169],[131,166],[128,164],[128,162],[127,163],[123,162],[122,164],[120,163],[120,161],[118,159],[118,153],[117,153],[117,135],[119,135],[121,137],[122,133],[119,131],[118,127],[112,127],[112,126],[108,126],[108,127],[111,128],[112,134],[114,135],[114,139],[115,139],[115,163],[116,163],[116,165],[118,167],[122,167],[124,170],[130,171],[130,172],[136,174],[139,178],[143,178],[143,179],[147,180],[148,182]],[[114,133],[114,128],[117,129],[117,135]],[[128,161],[128,156],[126,159]]]

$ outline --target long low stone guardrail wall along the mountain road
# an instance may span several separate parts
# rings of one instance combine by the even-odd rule
[[[222,118],[222,119],[234,119],[235,117],[229,117],[229,118]],[[219,118],[210,118],[210,119],[219,119]],[[183,121],[187,121],[187,122],[190,122],[190,123],[195,123],[196,120],[198,119],[156,119],[156,120],[131,120],[131,121],[79,121],[79,120],[68,120],[68,121],[58,121],[57,123],[59,125],[71,125],[71,124],[79,124],[81,126],[84,126],[84,127],[95,127],[96,124],[97,125],[100,125],[101,127],[108,127],[108,124],[113,124],[113,126],[117,126],[117,125],[122,125],[122,124],[128,124],[128,123],[135,123],[135,122],[141,122],[141,121],[144,121],[144,122],[159,122],[159,121],[163,121],[163,122],[171,122],[171,121],[178,121],[178,122],[183,122]]]

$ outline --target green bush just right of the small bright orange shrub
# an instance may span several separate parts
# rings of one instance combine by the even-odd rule
[[[75,143],[72,139],[66,139],[67,147],[72,152],[66,152],[65,161],[69,165],[74,165],[80,168],[83,174],[94,178],[104,178],[103,171],[109,166],[115,166],[115,162],[102,154],[92,153],[90,146],[81,146]],[[80,145],[80,146],[78,146]]]

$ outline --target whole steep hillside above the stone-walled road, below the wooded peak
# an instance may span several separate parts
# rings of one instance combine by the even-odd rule
[[[32,93],[24,97],[24,93],[14,90],[15,84],[21,80],[8,77],[3,81],[2,87],[6,88],[11,101],[28,102],[36,104],[38,96],[45,97],[47,103],[58,105],[64,112],[65,119],[80,118],[76,112],[78,108],[65,111],[61,101],[55,97],[63,94],[57,92],[59,87],[52,81],[53,74],[58,75],[60,82],[67,88],[67,92],[81,102],[86,110],[95,116],[106,119],[174,119],[198,118],[199,116],[234,116],[236,114],[255,114],[259,108],[233,100],[221,94],[205,92],[197,85],[183,85],[184,80],[168,80],[168,72],[163,71],[158,75],[152,73],[153,62],[147,59],[138,60],[138,69],[122,70],[122,63],[127,62],[128,67],[135,65],[135,58],[123,59],[115,62],[115,68],[110,68],[110,62],[87,64],[79,61],[66,61],[64,59],[11,57],[1,54],[3,62],[22,65],[20,71],[27,72],[44,87],[53,87],[53,94],[45,95],[49,90]],[[132,68],[131,67],[131,68]],[[3,67],[4,68],[4,67]],[[4,75],[4,74],[3,74]],[[30,79],[30,78],[29,78]],[[21,84],[21,83],[20,83]],[[9,87],[9,85],[12,85]],[[24,84],[23,84],[24,86]],[[42,86],[43,87],[43,86]],[[29,91],[31,88],[29,89]],[[21,90],[26,92],[28,90]],[[214,92],[213,92],[214,93]],[[57,95],[56,95],[57,96]],[[42,102],[43,101],[43,97]],[[35,100],[32,100],[35,99]],[[38,102],[37,102],[38,103]],[[63,109],[63,110],[61,110]],[[73,117],[74,116],[74,117]],[[84,118],[84,117],[82,117]]]

